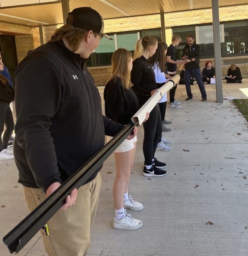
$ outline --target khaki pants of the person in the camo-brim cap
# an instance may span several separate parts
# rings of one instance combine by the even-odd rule
[[[49,256],[83,256],[90,246],[90,228],[93,225],[101,175],[78,189],[74,206],[66,211],[58,211],[47,222],[49,236],[41,229],[41,236]],[[28,210],[33,211],[46,199],[43,189],[23,187]]]

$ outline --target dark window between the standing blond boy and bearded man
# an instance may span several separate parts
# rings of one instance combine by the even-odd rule
[[[181,59],[184,46],[187,44],[187,36],[192,35],[195,38],[195,26],[174,27],[172,34],[177,34],[182,39],[182,42],[175,49],[177,59]]]

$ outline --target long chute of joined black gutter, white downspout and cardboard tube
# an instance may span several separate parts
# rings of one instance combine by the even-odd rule
[[[68,178],[56,191],[45,201],[37,206],[26,218],[15,226],[4,238],[3,242],[11,253],[18,253],[31,238],[47,223],[48,220],[62,207],[67,195],[86,183],[89,177],[103,164],[114,150],[126,139],[135,126],[139,126],[146,117],[146,112],[151,112],[159,102],[161,95],[170,90],[180,77],[175,75],[169,82],[164,84],[146,104],[132,117],[132,121],[126,125],[109,143],[93,155],[82,167]],[[137,121],[136,121],[137,120]]]

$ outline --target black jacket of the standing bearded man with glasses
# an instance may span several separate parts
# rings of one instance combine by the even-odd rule
[[[188,59],[195,58],[195,61],[190,61],[185,64],[185,69],[199,69],[200,68],[200,57],[201,57],[201,48],[198,44],[193,44],[189,47],[188,44],[184,46],[183,55],[187,55]]]

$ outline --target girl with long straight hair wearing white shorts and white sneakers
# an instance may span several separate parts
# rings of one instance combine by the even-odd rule
[[[132,54],[125,49],[117,49],[111,58],[112,76],[107,82],[103,98],[105,100],[105,115],[116,123],[127,125],[132,116],[139,110],[136,94],[131,89],[130,71],[132,70]],[[147,118],[149,113],[147,113]],[[146,118],[146,119],[147,119]],[[107,137],[107,141],[109,141]],[[143,205],[128,196],[130,171],[134,162],[137,137],[125,140],[114,151],[116,177],[113,186],[115,216],[113,228],[136,230],[142,226],[140,220],[126,213],[124,208],[134,211],[143,209]]]

